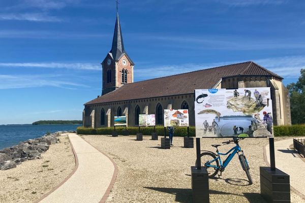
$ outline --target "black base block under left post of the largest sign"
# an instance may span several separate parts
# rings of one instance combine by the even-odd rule
[[[204,167],[191,166],[193,203],[209,203],[208,173]]]

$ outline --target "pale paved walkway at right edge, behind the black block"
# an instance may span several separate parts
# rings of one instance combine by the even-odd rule
[[[305,195],[305,158],[290,149],[291,144],[293,144],[293,139],[275,142],[276,167],[290,175],[290,185]],[[266,158],[270,163],[269,145],[266,146],[265,150]]]

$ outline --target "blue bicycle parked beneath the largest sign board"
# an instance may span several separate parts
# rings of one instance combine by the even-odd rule
[[[206,168],[209,178],[216,176],[219,171],[220,171],[219,176],[221,176],[222,172],[225,171],[226,166],[230,163],[230,161],[232,160],[234,155],[238,154],[238,158],[239,158],[240,164],[242,166],[242,170],[246,172],[250,185],[253,183],[250,172],[249,172],[249,170],[250,170],[249,163],[247,161],[245,154],[243,154],[243,151],[241,150],[241,148],[238,144],[238,142],[243,139],[245,139],[245,138],[233,138],[233,140],[223,142],[224,145],[235,143],[235,147],[230,149],[227,153],[219,152],[218,147],[221,145],[212,145],[212,147],[216,148],[217,154],[215,154],[214,152],[205,151],[205,150],[203,153],[200,154],[202,167]],[[232,152],[232,153],[230,153],[230,152]],[[228,157],[226,158],[226,160],[224,160],[222,162],[220,155],[224,155],[224,156],[228,155]],[[196,160],[196,166],[197,166],[197,160]]]

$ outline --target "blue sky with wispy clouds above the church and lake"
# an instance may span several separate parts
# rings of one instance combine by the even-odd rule
[[[0,124],[79,119],[101,94],[114,0],[0,2]],[[135,81],[253,60],[295,82],[305,1],[119,1]]]

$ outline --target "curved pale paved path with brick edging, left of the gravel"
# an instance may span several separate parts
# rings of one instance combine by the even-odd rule
[[[69,133],[71,145],[78,159],[75,173],[50,193],[40,203],[95,203],[100,202],[108,188],[116,169],[113,162],[104,154],[85,142],[75,133]],[[114,177],[115,178],[115,177]],[[107,195],[101,202],[104,202]]]

